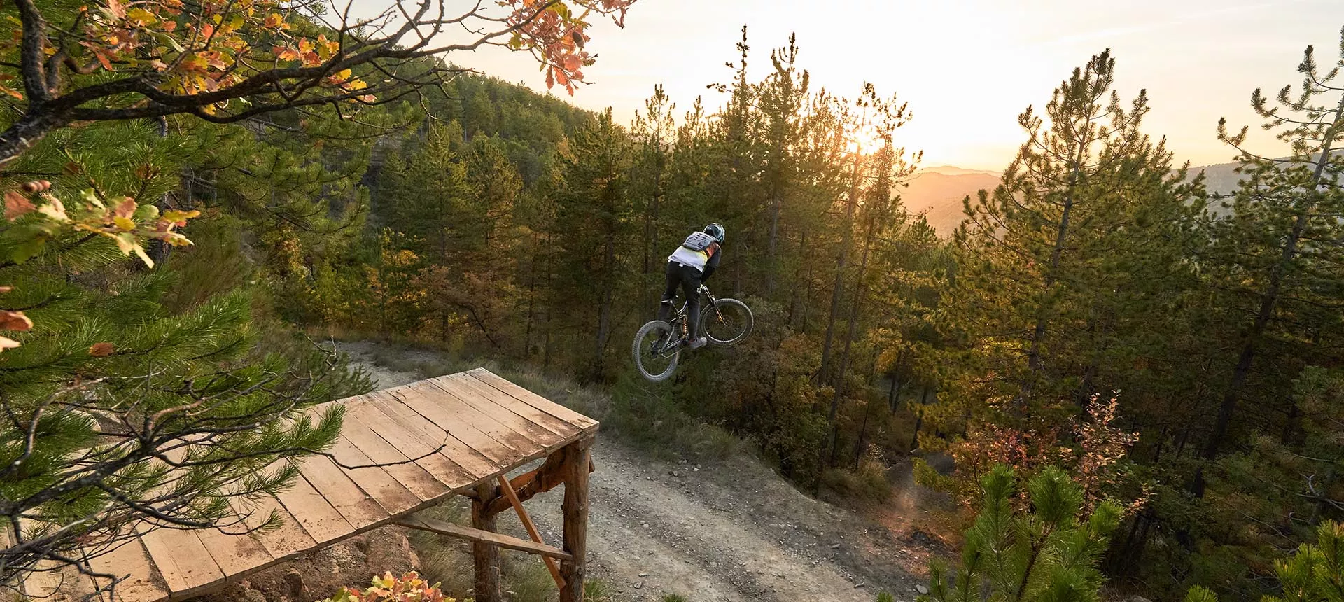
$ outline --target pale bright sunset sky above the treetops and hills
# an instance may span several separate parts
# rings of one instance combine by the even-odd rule
[[[360,1],[360,0],[356,0]],[[1177,161],[1227,163],[1219,117],[1251,125],[1251,142],[1279,149],[1250,109],[1257,87],[1297,85],[1308,44],[1321,64],[1339,59],[1341,0],[638,0],[624,30],[594,26],[598,62],[569,98],[613,108],[629,122],[663,83],[677,114],[698,95],[722,97],[734,44],[747,26],[749,74],[769,70],[770,48],[797,34],[798,63],[814,87],[855,95],[871,82],[907,101],[914,114],[898,144],[925,152],[925,165],[1003,169],[1024,133],[1017,114],[1043,108],[1074,67],[1105,48],[1116,58],[1126,101],[1146,89],[1145,132],[1165,136]],[[536,63],[501,48],[450,60],[544,91]],[[1341,75],[1344,78],[1344,75]],[[564,95],[563,89],[552,90]]]

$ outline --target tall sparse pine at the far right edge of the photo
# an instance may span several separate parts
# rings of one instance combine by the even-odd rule
[[[1344,34],[1341,34],[1344,36]],[[1224,324],[1235,324],[1236,357],[1220,384],[1218,418],[1202,450],[1214,461],[1228,441],[1243,398],[1274,396],[1297,375],[1304,363],[1336,360],[1332,341],[1340,336],[1339,312],[1344,281],[1336,266],[1344,254],[1336,245],[1344,236],[1337,216],[1344,212],[1344,191],[1337,185],[1344,159],[1336,150],[1344,137],[1344,93],[1331,86],[1344,67],[1328,73],[1306,48],[1298,70],[1305,81],[1297,95],[1292,86],[1278,93],[1279,106],[1255,90],[1253,108],[1292,144],[1293,155],[1273,160],[1245,148],[1246,129],[1231,134],[1226,120],[1219,136],[1241,150],[1243,179],[1231,203],[1232,215],[1208,224],[1212,245],[1204,258],[1208,281],[1219,292]],[[1337,99],[1335,97],[1339,97]],[[1282,345],[1278,341],[1296,341]],[[1288,421],[1294,408],[1286,408]],[[1192,490],[1203,494],[1200,469]]]

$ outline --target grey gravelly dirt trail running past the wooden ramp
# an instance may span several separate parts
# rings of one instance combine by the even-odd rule
[[[367,345],[347,352],[379,387],[417,375],[375,366]],[[621,601],[874,601],[886,590],[914,599],[922,582],[903,567],[927,550],[880,524],[816,501],[757,458],[696,466],[650,460],[610,438],[593,452],[589,575]],[[547,542],[560,540],[560,490],[528,504]],[[504,529],[524,536],[517,520]]]

